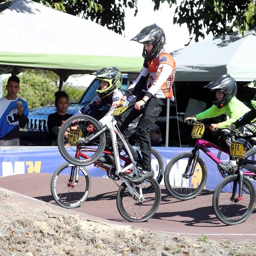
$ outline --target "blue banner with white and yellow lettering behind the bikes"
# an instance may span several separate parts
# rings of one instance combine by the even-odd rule
[[[191,152],[193,148],[155,147],[155,149],[163,157],[166,167],[175,155]],[[212,148],[210,150],[217,156],[218,150]],[[208,173],[206,188],[215,189],[223,179],[217,165],[202,151],[200,151],[200,157],[204,160]],[[1,147],[0,177],[24,173],[54,173],[65,162],[58,147]],[[93,164],[86,166],[86,168],[92,177],[107,177],[105,171],[94,167]],[[164,184],[164,179],[161,184]]]

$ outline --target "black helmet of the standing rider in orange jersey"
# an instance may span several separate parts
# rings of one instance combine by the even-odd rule
[[[131,39],[131,41],[132,40],[141,44],[153,44],[153,48],[150,53],[145,51],[145,46],[142,53],[143,58],[146,60],[152,60],[163,49],[165,44],[165,35],[163,29],[154,23],[143,28],[138,35]]]

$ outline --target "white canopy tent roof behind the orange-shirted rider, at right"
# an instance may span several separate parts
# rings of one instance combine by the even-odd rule
[[[212,81],[229,73],[236,81],[256,78],[256,29],[214,37],[172,52],[175,81]]]

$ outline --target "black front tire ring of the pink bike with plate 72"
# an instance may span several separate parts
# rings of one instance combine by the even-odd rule
[[[200,185],[197,187],[197,189],[195,189],[192,193],[189,193],[189,194],[180,194],[180,193],[177,193],[176,191],[174,191],[174,189],[172,188],[172,186],[170,184],[170,180],[169,180],[170,171],[172,169],[172,166],[178,160],[185,158],[185,157],[188,157],[188,158],[193,157],[193,154],[191,152],[185,152],[185,153],[180,153],[180,154],[176,155],[168,163],[168,165],[165,168],[165,172],[164,172],[164,184],[165,184],[166,189],[173,197],[175,197],[179,200],[189,200],[189,199],[196,197],[203,190],[205,183],[206,183],[206,179],[207,179],[207,169],[204,164],[204,161],[200,157],[198,157],[197,162],[200,164],[201,169],[202,169],[202,180],[201,180]]]

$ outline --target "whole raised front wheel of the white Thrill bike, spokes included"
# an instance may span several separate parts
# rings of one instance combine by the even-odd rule
[[[92,125],[93,132],[87,131]],[[102,154],[106,136],[105,133],[91,138],[102,130],[99,122],[86,115],[75,115],[68,118],[60,127],[58,133],[58,148],[63,158],[71,164],[85,166],[95,162]]]

